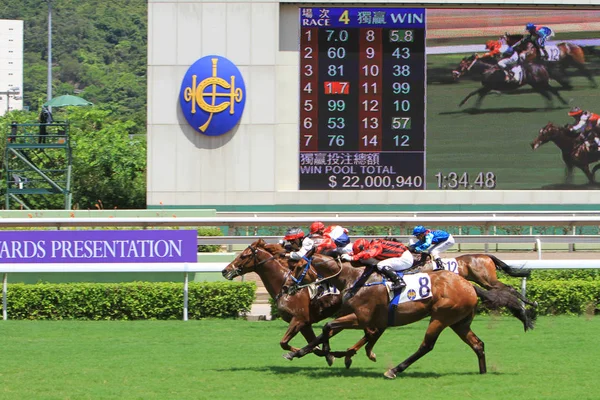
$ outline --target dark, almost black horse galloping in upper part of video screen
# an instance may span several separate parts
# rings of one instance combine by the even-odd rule
[[[459,79],[473,69],[475,65],[481,63],[476,56],[465,57],[458,67],[452,71],[454,79]],[[567,104],[566,100],[560,95],[558,89],[550,85],[550,75],[546,67],[540,64],[524,64],[521,66],[522,78],[519,81],[506,81],[506,72],[496,65],[485,64],[481,72],[481,88],[469,93],[459,106],[464,105],[468,99],[477,95],[475,107],[481,106],[483,98],[490,92],[513,92],[518,88],[529,85],[534,91],[541,94],[547,102],[547,107],[552,106],[552,95],[556,96],[561,103]]]

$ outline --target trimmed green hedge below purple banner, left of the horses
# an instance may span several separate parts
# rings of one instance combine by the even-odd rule
[[[190,282],[188,318],[237,317],[248,312],[254,282]],[[181,283],[40,283],[11,284],[10,319],[139,320],[182,319]]]

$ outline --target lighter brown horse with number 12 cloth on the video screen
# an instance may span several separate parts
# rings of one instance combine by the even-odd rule
[[[537,47],[535,47],[531,41],[525,39],[525,35],[510,35],[505,33],[501,37],[501,40],[503,40],[507,46],[517,45],[515,50],[522,53],[526,61],[536,62],[539,60],[539,52]],[[521,43],[518,44],[518,42]],[[546,45],[545,48],[549,55],[546,63],[550,67],[550,74],[553,75],[553,77],[557,79],[561,85],[565,86],[559,76],[554,76],[554,66],[558,67],[558,72],[562,76],[564,76],[565,70],[568,67],[575,67],[583,76],[588,79],[588,81],[590,81],[592,87],[598,87],[594,76],[585,66],[585,54],[580,46],[573,43],[561,42],[555,46]]]

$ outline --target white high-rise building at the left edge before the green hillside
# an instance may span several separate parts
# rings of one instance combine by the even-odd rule
[[[0,115],[23,109],[23,21],[0,19]]]

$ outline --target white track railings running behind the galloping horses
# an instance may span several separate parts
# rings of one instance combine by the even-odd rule
[[[404,213],[402,213],[404,214]],[[556,213],[506,213],[497,215],[493,213],[407,213],[410,216],[390,215],[340,215],[331,216],[327,213],[306,216],[218,216],[218,217],[139,217],[139,218],[0,218],[0,228],[35,228],[50,227],[55,229],[76,227],[199,227],[199,226],[225,226],[231,229],[238,227],[258,226],[307,226],[321,220],[325,224],[338,224],[343,226],[404,226],[415,224],[429,226],[484,226],[489,231],[499,226],[562,226],[569,228],[573,233],[575,227],[599,226],[600,216],[593,213],[569,213],[569,215],[556,215]],[[369,236],[364,236],[369,237]],[[409,236],[396,236],[399,240],[408,241]],[[203,236],[198,238],[198,244],[221,245],[249,245],[259,236]],[[263,237],[268,242],[274,242],[280,237]],[[514,268],[524,269],[557,269],[557,268],[600,268],[600,259],[592,260],[542,260],[542,245],[548,243],[568,243],[570,246],[577,243],[600,244],[600,235],[457,235],[458,244],[501,244],[501,243],[531,243],[538,252],[538,260],[511,260],[507,264]],[[535,244],[535,245],[534,245]],[[533,250],[533,249],[532,249]],[[572,250],[569,247],[569,250]],[[7,319],[6,292],[7,275],[14,272],[183,272],[184,273],[184,315],[187,320],[188,306],[188,273],[189,272],[218,272],[226,263],[121,263],[121,264],[16,264],[0,263],[0,273],[3,277],[2,305],[3,319]],[[525,290],[525,278],[522,290]]]

